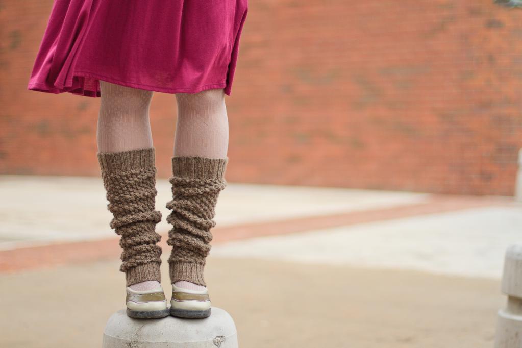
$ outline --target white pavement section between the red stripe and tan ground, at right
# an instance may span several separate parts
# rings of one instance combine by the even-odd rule
[[[522,205],[232,241],[210,255],[500,278],[505,249],[515,242],[522,242]]]

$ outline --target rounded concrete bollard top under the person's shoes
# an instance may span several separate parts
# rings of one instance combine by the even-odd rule
[[[125,310],[110,318],[103,331],[103,348],[238,348],[232,317],[212,307],[205,319],[133,319]]]

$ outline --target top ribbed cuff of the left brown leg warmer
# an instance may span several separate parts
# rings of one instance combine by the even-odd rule
[[[155,165],[155,148],[119,152],[98,152],[100,168],[105,172],[123,172]]]

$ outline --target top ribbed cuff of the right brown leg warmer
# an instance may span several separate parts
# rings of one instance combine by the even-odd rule
[[[181,177],[222,179],[227,170],[228,157],[199,156],[172,157],[172,174]]]

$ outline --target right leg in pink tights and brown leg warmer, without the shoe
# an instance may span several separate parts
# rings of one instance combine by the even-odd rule
[[[178,93],[172,158],[174,199],[167,204],[174,225],[168,244],[171,282],[191,290],[205,289],[203,267],[215,224],[216,200],[224,188],[228,161],[228,116],[223,89]]]

